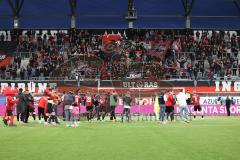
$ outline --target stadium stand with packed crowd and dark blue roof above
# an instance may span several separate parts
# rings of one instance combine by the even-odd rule
[[[0,2],[0,41],[17,43],[1,69],[4,79],[214,79],[240,72],[237,0],[193,1],[187,32],[183,1],[138,0],[131,33],[125,1],[78,1],[78,29],[66,29],[72,13],[61,7],[66,0],[19,2],[19,30],[10,29],[16,8]],[[104,43],[104,35],[121,38]]]

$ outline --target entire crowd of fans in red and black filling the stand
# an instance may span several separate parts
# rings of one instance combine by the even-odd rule
[[[94,74],[89,77],[101,74],[102,79],[213,79],[240,75],[240,38],[230,32],[167,34],[158,30],[138,31],[132,35],[130,46],[114,58],[104,56],[100,35],[86,30],[71,30],[68,34],[59,32],[53,35],[29,31],[16,40],[18,53],[31,53],[29,62],[26,67],[21,66],[22,56],[16,56],[12,64],[5,69],[1,68],[2,78],[4,71],[9,71],[15,79],[18,69],[21,79],[49,77],[57,68],[60,68],[57,75],[68,79],[75,77],[72,75],[79,71],[81,74]],[[86,59],[76,62],[81,64],[77,70],[76,65],[61,67],[69,59],[83,55]],[[99,58],[99,65],[89,63],[87,59],[91,56]]]

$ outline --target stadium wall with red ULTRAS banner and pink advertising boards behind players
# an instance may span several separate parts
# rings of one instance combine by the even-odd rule
[[[0,81],[0,91],[3,92],[6,86],[23,90],[28,89],[35,93],[35,105],[37,105],[39,97],[48,88],[55,88],[59,92],[63,91],[78,91],[84,93],[87,90],[97,93],[100,90],[112,91],[116,90],[119,94],[124,94],[126,91],[131,91],[138,102],[141,98],[144,105],[133,106],[131,108],[132,114],[154,114],[153,96],[155,92],[160,92],[166,89],[182,89],[197,90],[201,94],[200,102],[202,104],[203,112],[209,116],[226,115],[225,105],[219,104],[217,99],[221,95],[222,99],[226,95],[232,95],[234,105],[231,106],[232,115],[240,115],[240,81]],[[0,95],[0,115],[3,114],[6,104],[6,97]],[[37,107],[37,106],[36,106]],[[62,107],[59,107],[58,114],[61,115]],[[193,106],[189,105],[189,111],[193,112]],[[81,112],[85,113],[85,106],[81,106]],[[122,100],[119,99],[119,104],[116,108],[117,113],[122,113]],[[175,113],[179,112],[179,107],[176,105]]]

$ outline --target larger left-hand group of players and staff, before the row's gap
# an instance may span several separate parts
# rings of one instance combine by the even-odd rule
[[[17,113],[18,123],[28,123],[29,115],[36,119],[34,98],[31,93],[23,89],[19,89],[17,94],[8,93],[6,95],[6,108],[3,116],[3,122],[6,126],[15,126],[14,124],[14,111]],[[127,120],[130,120],[130,107],[133,98],[127,93],[122,96],[124,102],[124,115]],[[117,94],[113,92],[100,91],[99,93],[90,93],[87,91],[83,96],[80,92],[74,94],[69,91],[67,93],[57,93],[55,90],[46,90],[44,95],[40,97],[37,103],[37,113],[39,123],[44,125],[59,125],[57,117],[57,110],[62,107],[63,120],[67,127],[77,127],[80,120],[80,106],[84,103],[86,106],[86,117],[89,122],[97,117],[98,121],[104,121],[106,113],[110,113],[110,120],[116,121],[115,108],[117,105]]]

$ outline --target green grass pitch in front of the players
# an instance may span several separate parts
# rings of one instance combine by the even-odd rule
[[[1,160],[237,160],[240,118],[197,118],[190,124],[87,123],[78,128],[37,122],[0,125]]]

